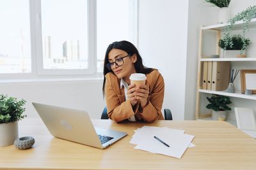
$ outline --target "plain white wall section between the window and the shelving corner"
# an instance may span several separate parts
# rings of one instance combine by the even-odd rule
[[[175,4],[175,5],[173,5]],[[163,108],[184,119],[188,0],[140,0],[138,48],[147,67],[164,77]]]

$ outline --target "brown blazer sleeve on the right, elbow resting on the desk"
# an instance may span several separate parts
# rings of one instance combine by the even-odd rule
[[[160,73],[152,88],[152,92],[148,96],[148,104],[143,109],[139,108],[138,110],[138,114],[146,122],[164,119],[161,112],[164,99],[164,79]]]

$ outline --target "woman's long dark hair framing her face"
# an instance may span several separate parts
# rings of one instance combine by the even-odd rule
[[[130,43],[129,41],[115,41],[114,43],[111,43],[108,46],[108,48],[106,50],[106,54],[105,54],[104,69],[103,69],[104,81],[103,81],[103,86],[102,86],[103,96],[105,96],[105,83],[106,83],[105,75],[108,74],[109,72],[113,73],[113,71],[109,70],[106,65],[109,63],[108,54],[114,48],[123,50],[123,51],[127,52],[128,55],[133,55],[134,53],[137,55],[137,61],[134,63],[134,67],[135,67],[137,73],[148,74],[151,71],[154,71],[153,68],[148,68],[148,67],[143,66],[140,53],[138,52],[137,48],[132,43]]]

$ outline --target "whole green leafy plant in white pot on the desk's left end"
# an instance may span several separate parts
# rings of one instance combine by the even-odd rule
[[[13,145],[19,137],[17,121],[26,117],[22,107],[25,103],[24,99],[0,95],[0,146]]]

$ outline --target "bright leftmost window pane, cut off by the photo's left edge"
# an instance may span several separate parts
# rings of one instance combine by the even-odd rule
[[[30,73],[29,1],[0,1],[0,74]]]

